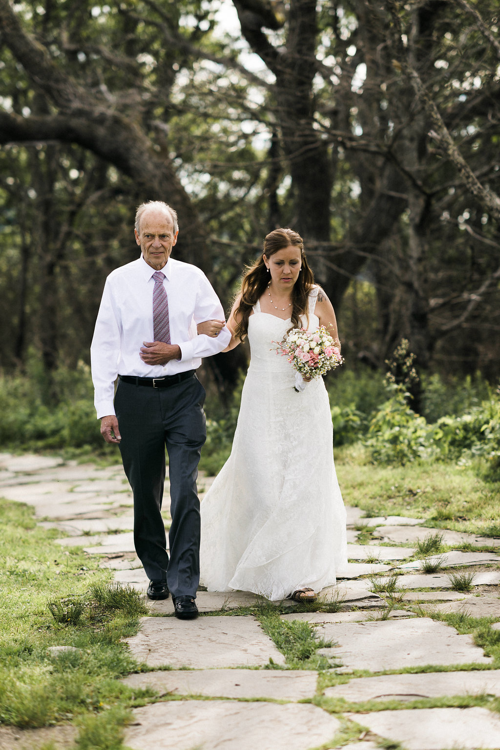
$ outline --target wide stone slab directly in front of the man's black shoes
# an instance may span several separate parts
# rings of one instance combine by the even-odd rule
[[[150,667],[262,667],[269,658],[284,664],[284,656],[251,616],[143,617],[138,634],[125,642],[134,658]]]

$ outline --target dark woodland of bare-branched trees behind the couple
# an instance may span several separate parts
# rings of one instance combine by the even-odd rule
[[[36,392],[48,419],[88,383],[104,281],[137,257],[144,199],[177,209],[175,256],[227,309],[266,233],[302,234],[347,361],[334,408],[381,403],[402,339],[416,412],[470,406],[466,377],[491,398],[499,24],[496,0],[0,0],[4,413]],[[246,356],[207,360],[219,416]]]

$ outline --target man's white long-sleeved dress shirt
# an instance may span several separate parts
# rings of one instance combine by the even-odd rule
[[[166,365],[147,365],[139,356],[144,341],[153,338],[153,273],[141,256],[115,269],[106,279],[91,345],[94,404],[97,417],[115,414],[115,380],[120,375],[164,377],[195,370],[201,358],[221,352],[231,341],[222,329],[217,337],[198,336],[204,320],[224,320],[219,298],[204,273],[180,260],[169,258],[160,269],[168,296],[170,339],[178,344],[180,359]]]

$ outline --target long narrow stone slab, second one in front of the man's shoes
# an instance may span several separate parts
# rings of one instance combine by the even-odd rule
[[[150,687],[159,695],[205,695],[226,698],[305,700],[316,693],[312,670],[207,669],[130,674],[122,680],[134,688]]]

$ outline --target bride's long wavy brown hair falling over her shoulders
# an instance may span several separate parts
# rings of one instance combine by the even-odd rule
[[[304,253],[304,241],[302,237],[293,231],[293,229],[273,229],[272,232],[264,238],[264,250],[261,255],[251,266],[246,267],[241,282],[241,299],[240,305],[234,311],[235,316],[241,317],[240,323],[237,324],[235,335],[242,339],[249,332],[249,317],[251,310],[260,299],[264,290],[269,284],[269,275],[267,274],[266,264],[263,256],[271,257],[290,245],[300,248],[300,257],[302,266],[299,278],[293,284],[292,289],[292,328],[300,328],[300,316],[308,314],[308,296],[314,286],[314,274],[309,266]]]

